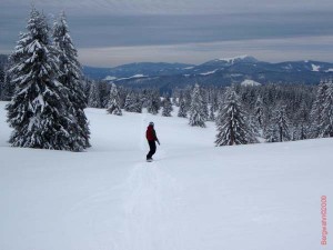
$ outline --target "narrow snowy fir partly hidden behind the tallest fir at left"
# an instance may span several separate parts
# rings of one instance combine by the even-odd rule
[[[71,143],[75,151],[82,151],[90,147],[90,130],[84,113],[87,97],[82,86],[82,72],[81,64],[78,61],[78,51],[73,46],[64,12],[54,22],[53,42],[59,51],[60,76],[58,79],[59,82],[68,88],[68,98],[71,106],[67,108],[68,112],[75,119],[75,126],[71,129]]]

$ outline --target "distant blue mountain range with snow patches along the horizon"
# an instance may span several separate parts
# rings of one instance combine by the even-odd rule
[[[333,63],[321,61],[286,61],[271,63],[253,57],[214,59],[202,64],[141,62],[114,68],[83,67],[85,76],[129,87],[172,88],[191,83],[228,86],[305,83],[316,84],[333,77]]]

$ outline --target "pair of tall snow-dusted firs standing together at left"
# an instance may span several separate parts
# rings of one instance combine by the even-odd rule
[[[33,8],[8,70],[14,86],[7,106],[12,146],[69,151],[90,147],[77,58],[64,13],[50,29],[47,18]]]

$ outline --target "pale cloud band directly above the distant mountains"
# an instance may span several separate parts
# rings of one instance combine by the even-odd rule
[[[309,59],[332,62],[332,54],[329,51],[333,51],[333,36],[168,46],[83,48],[79,50],[79,58],[83,64],[100,67],[114,67],[133,61],[199,64],[211,59],[239,54],[250,54],[271,62]]]

